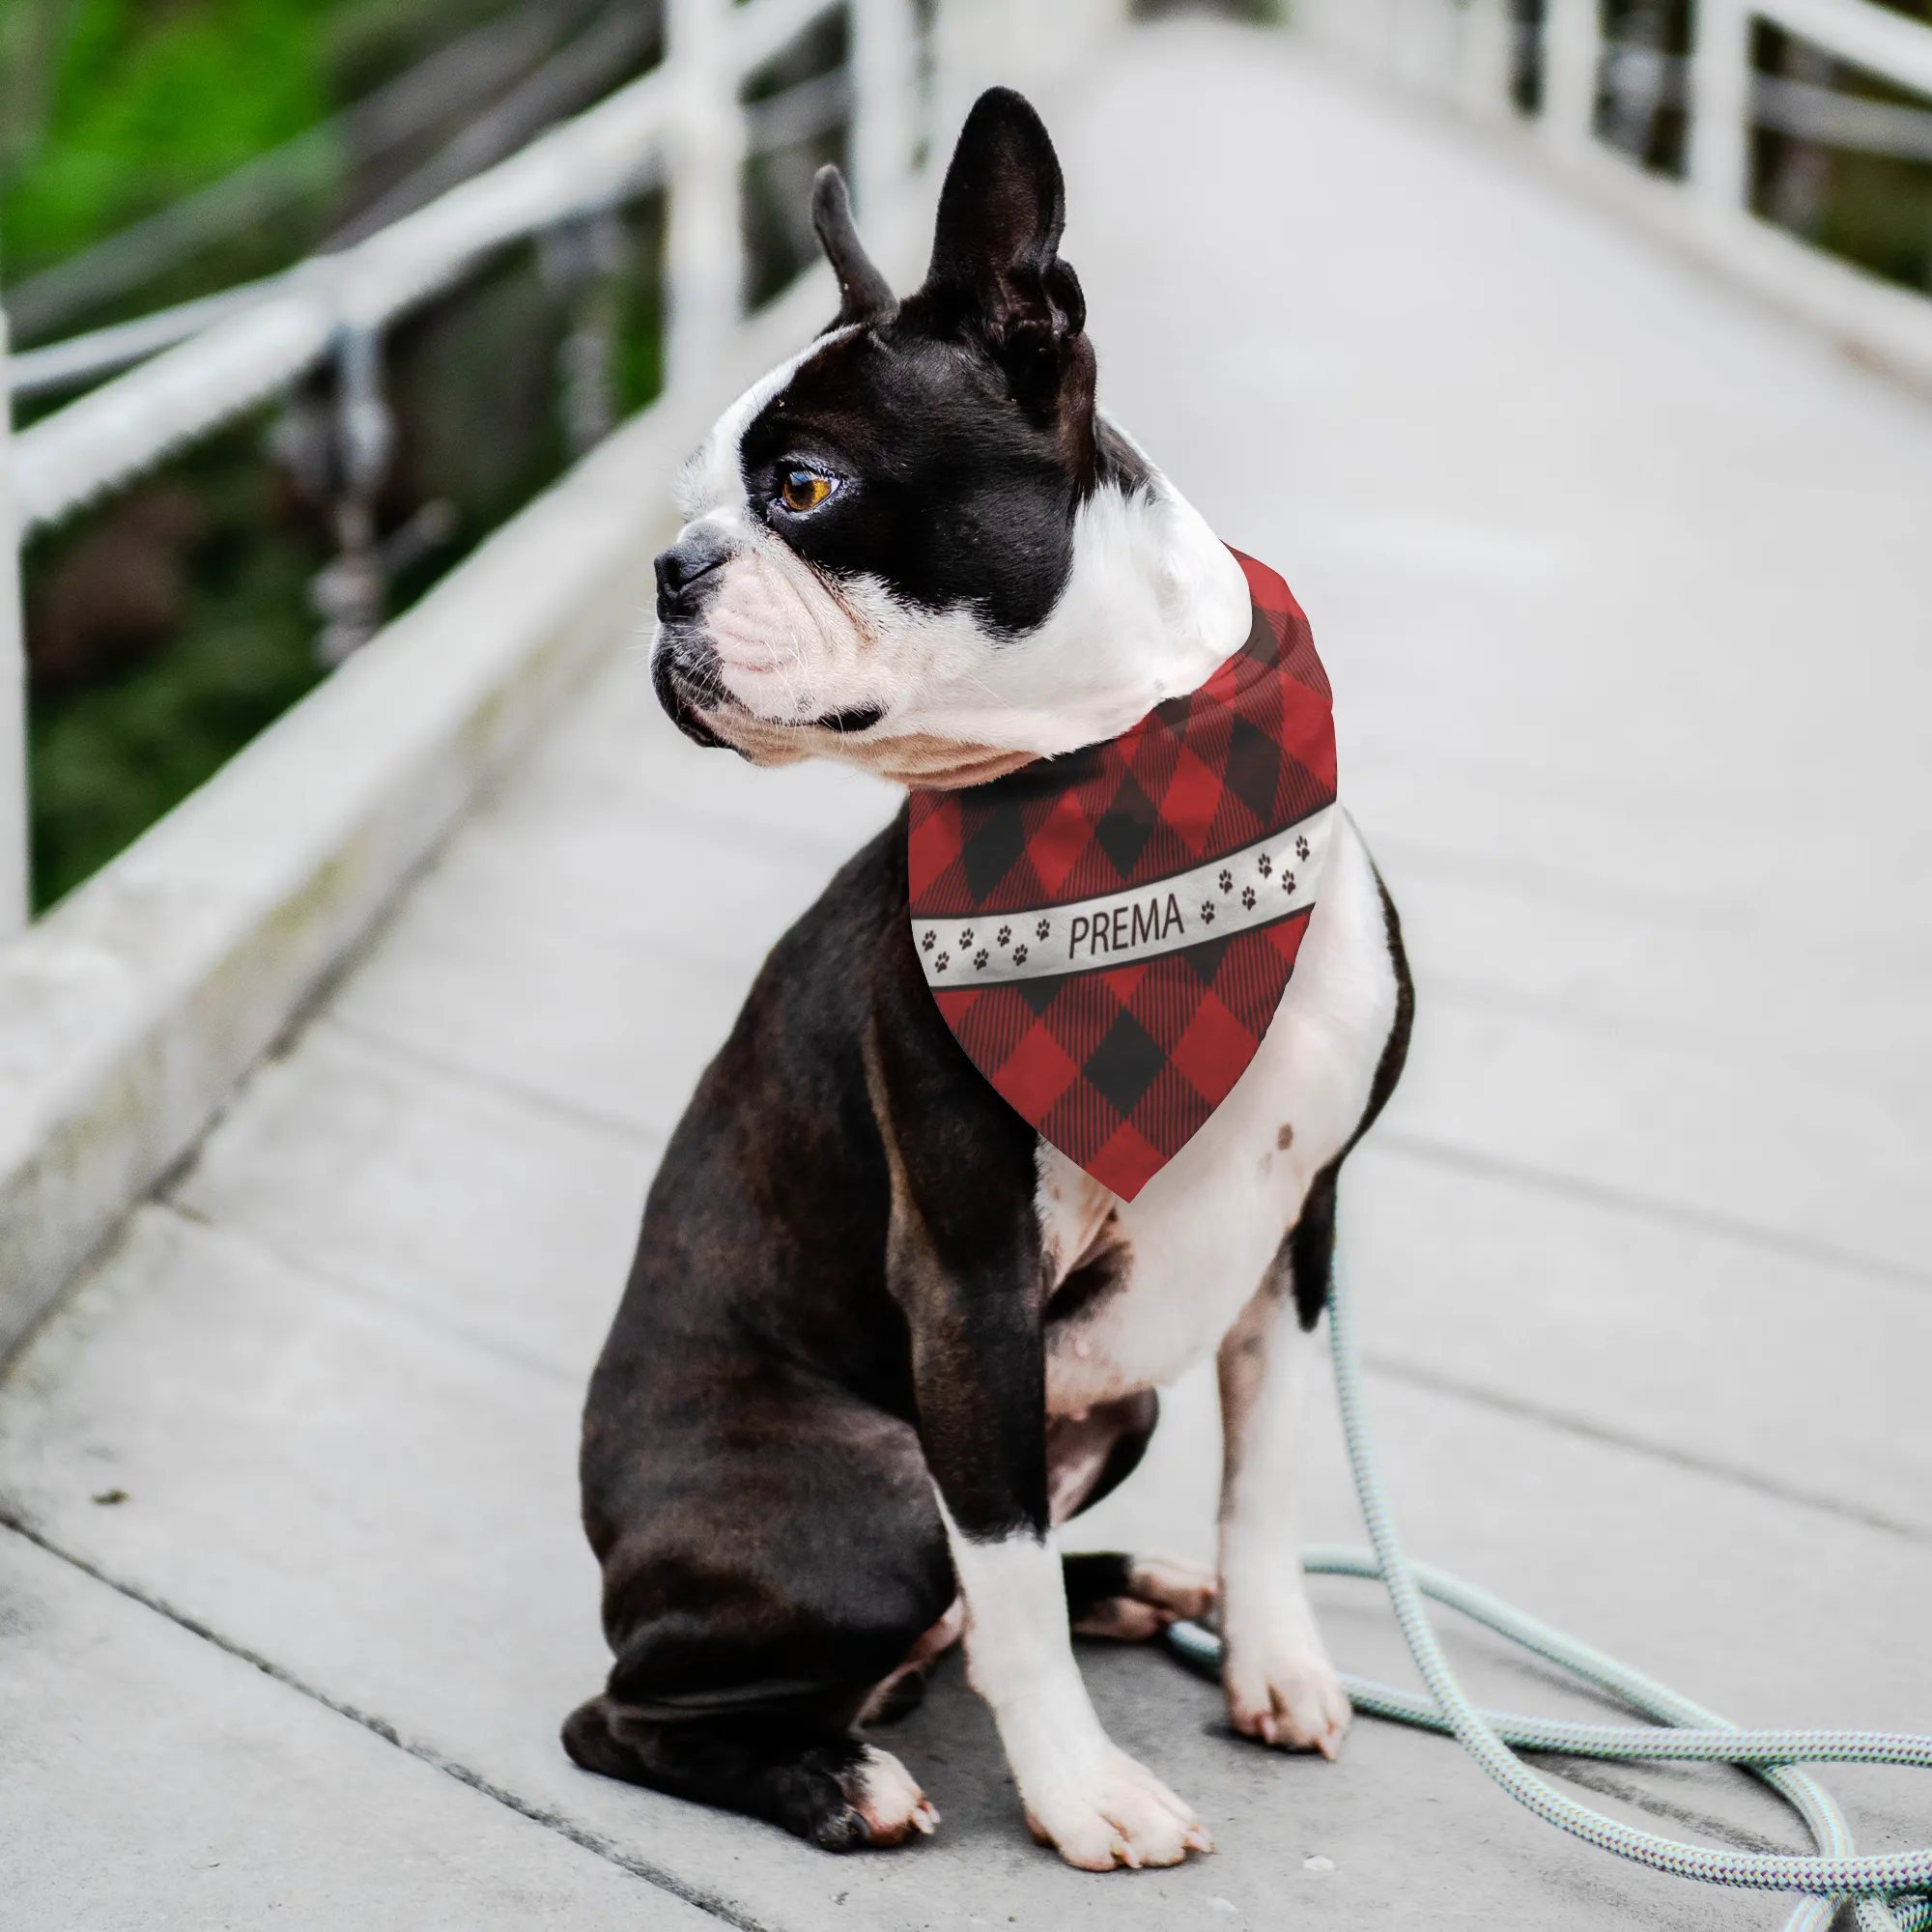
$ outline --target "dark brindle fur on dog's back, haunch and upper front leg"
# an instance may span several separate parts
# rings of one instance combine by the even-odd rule
[[[616,1663],[580,1764],[852,1841],[842,1737],[954,1596],[933,1480],[974,1534],[1047,1522],[1034,1146],[920,974],[900,815],[779,941],[651,1186],[583,1420]]]

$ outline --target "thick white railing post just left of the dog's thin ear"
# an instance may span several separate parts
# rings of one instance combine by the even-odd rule
[[[665,243],[665,386],[703,384],[738,321],[744,253],[738,166],[744,114],[724,64],[728,0],[668,0],[670,234]]]

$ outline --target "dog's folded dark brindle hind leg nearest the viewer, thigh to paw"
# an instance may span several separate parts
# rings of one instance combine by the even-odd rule
[[[564,1748],[827,1851],[931,1832],[912,1774],[852,1735],[954,1596],[910,1424],[767,1372],[707,1391],[694,1441],[616,1426],[624,1395],[593,1383],[583,1451],[616,1658]]]

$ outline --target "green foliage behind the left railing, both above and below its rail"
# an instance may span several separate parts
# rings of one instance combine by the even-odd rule
[[[315,128],[504,0],[0,0],[0,218],[17,282]],[[325,156],[327,158],[327,156]],[[128,298],[135,313],[311,245],[313,211],[203,249]],[[616,319],[622,412],[661,381],[663,201],[630,211]],[[317,230],[319,232],[319,230]],[[566,464],[558,348],[582,294],[510,249],[402,319],[386,344],[400,450],[394,529],[427,500],[456,539],[390,585],[406,609]],[[110,307],[120,307],[110,305]],[[91,313],[87,321],[106,319]],[[327,375],[317,383],[327,388]],[[43,408],[58,408],[50,398]],[[327,520],[265,458],[267,415],[213,437],[23,558],[35,898],[120,852],[323,676],[309,582]],[[162,526],[143,533],[143,500]],[[153,520],[149,520],[153,524]]]

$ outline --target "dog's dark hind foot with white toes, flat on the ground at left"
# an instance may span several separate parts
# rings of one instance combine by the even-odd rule
[[[759,1712],[667,1719],[605,1694],[564,1721],[564,1750],[585,1772],[750,1812],[825,1851],[931,1833],[939,1812],[898,1758],[850,1735],[850,1716],[848,1704],[821,1723]]]

